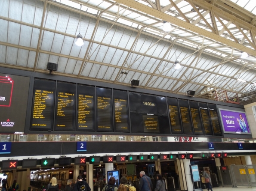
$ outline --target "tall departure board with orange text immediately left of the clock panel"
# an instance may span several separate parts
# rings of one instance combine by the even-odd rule
[[[113,90],[115,132],[130,132],[128,113],[128,94]]]

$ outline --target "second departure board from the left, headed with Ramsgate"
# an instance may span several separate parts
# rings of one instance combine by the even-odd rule
[[[57,83],[55,130],[75,130],[76,84]]]

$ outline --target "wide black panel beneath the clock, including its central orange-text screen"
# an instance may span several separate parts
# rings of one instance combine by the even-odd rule
[[[168,116],[137,112],[131,112],[130,116],[133,133],[170,134]]]

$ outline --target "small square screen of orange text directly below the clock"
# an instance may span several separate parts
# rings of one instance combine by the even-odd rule
[[[144,132],[159,132],[158,117],[154,115],[142,115]]]

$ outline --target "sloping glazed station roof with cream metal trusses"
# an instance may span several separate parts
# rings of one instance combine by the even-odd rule
[[[205,88],[230,96],[252,90],[256,3],[198,2],[1,0],[0,63],[43,72],[53,62],[65,76],[123,85],[136,79],[147,89],[196,96]]]

